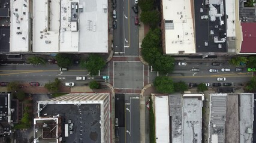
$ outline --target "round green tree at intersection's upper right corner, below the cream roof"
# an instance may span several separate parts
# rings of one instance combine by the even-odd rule
[[[170,55],[160,55],[155,58],[155,63],[153,63],[153,70],[159,71],[160,73],[167,74],[174,69],[174,58]]]

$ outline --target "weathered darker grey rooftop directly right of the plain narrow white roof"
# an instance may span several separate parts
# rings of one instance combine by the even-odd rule
[[[182,95],[169,95],[169,116],[171,142],[182,142]]]

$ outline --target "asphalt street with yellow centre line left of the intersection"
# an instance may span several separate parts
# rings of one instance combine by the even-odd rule
[[[47,82],[52,82],[55,78],[61,77],[62,83],[74,82],[77,86],[83,86],[91,80],[105,82],[102,76],[108,76],[108,66],[100,75],[94,76],[94,79],[76,80],[76,76],[90,77],[88,71],[80,69],[79,66],[68,68],[68,71],[59,71],[59,67],[55,64],[47,66],[33,66],[33,65],[8,65],[0,66],[0,81],[13,82],[19,81],[20,83],[39,82],[44,86]]]

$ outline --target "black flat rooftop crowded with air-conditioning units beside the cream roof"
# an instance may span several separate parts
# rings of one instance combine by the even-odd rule
[[[207,2],[209,3],[206,4],[205,0],[194,1],[196,52],[227,52],[225,2],[223,0],[209,0]],[[233,4],[229,0],[227,2]],[[228,13],[233,13],[233,9],[228,9]],[[230,24],[233,18],[232,15],[228,18],[228,34],[230,36],[234,34],[232,33],[234,27]]]

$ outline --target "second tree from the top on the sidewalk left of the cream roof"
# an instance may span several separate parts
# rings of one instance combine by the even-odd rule
[[[150,27],[155,27],[160,20],[160,13],[157,10],[142,11],[140,14],[140,20],[144,24],[149,24]]]

